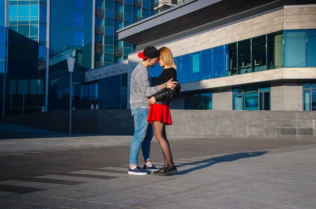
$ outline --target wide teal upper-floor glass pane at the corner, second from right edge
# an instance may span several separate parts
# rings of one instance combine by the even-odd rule
[[[284,31],[284,67],[306,66],[305,30]]]

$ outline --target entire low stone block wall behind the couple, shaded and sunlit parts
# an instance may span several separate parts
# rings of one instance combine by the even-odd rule
[[[316,139],[316,112],[171,110],[168,136]],[[69,111],[5,117],[5,123],[69,132]],[[133,135],[130,110],[75,110],[73,134]]]

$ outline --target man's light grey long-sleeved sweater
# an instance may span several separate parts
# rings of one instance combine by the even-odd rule
[[[150,107],[148,99],[160,90],[160,86],[151,87],[148,68],[139,63],[131,75],[130,106],[133,108]]]

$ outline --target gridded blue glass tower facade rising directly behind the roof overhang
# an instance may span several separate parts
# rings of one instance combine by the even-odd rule
[[[117,30],[156,14],[157,0],[96,0],[94,67],[128,58],[135,44],[118,39]]]

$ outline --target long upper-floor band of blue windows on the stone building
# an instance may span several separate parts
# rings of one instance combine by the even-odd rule
[[[187,83],[282,68],[284,61],[285,67],[315,67],[315,48],[316,29],[253,37],[176,57],[178,80]]]

